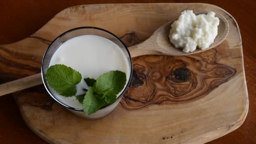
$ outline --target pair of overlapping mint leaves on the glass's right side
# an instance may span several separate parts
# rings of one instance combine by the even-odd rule
[[[88,82],[88,78],[85,79]],[[126,83],[126,75],[121,71],[110,71],[99,76],[90,87],[83,100],[85,114],[90,115],[98,111],[101,107],[112,104],[117,100],[117,94],[123,90]]]

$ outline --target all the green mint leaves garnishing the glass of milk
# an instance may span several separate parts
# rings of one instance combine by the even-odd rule
[[[71,67],[56,64],[47,70],[48,84],[62,96],[75,96],[76,85],[82,80],[79,72]],[[99,76],[97,80],[85,78],[89,89],[85,94],[76,96],[83,104],[86,115],[97,112],[101,107],[114,103],[117,94],[123,90],[126,83],[126,75],[121,71],[109,71]]]

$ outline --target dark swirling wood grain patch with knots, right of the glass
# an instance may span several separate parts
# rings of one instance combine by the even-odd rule
[[[121,104],[130,110],[164,101],[177,104],[207,96],[236,74],[235,68],[218,63],[229,56],[219,52],[223,48],[227,48],[226,53],[231,51],[224,42],[213,50],[193,56],[136,57],[133,79]]]

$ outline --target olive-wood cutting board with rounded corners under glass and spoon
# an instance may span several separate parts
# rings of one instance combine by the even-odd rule
[[[216,48],[190,56],[133,58],[133,79],[118,107],[100,120],[84,120],[54,102],[43,85],[13,93],[21,115],[54,144],[205,143],[242,125],[248,113],[243,49],[235,19],[201,3],[100,4],[67,8],[35,34],[0,45],[1,83],[40,72],[43,53],[62,32],[101,27],[127,46],[146,40],[181,11],[215,11],[229,22]]]

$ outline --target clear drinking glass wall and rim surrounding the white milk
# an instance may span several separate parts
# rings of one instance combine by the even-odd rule
[[[75,107],[70,107],[69,105],[64,104],[61,101],[59,101],[59,99],[57,99],[56,96],[54,95],[53,89],[48,85],[46,77],[45,77],[45,74],[46,74],[47,69],[49,67],[49,63],[51,61],[53,53],[65,41],[67,41],[67,40],[69,40],[73,37],[80,36],[80,35],[98,35],[98,36],[101,36],[101,37],[105,37],[105,38],[111,40],[113,43],[117,44],[120,47],[120,49],[123,51],[123,53],[125,54],[125,57],[128,59],[129,67],[130,67],[130,70],[131,70],[130,75],[127,77],[128,78],[128,83],[125,86],[123,92],[120,94],[120,96],[117,97],[117,101],[113,104],[109,104],[109,105],[99,109],[99,111],[97,111],[97,112],[95,112],[91,115],[85,115],[85,113],[83,112],[83,109],[77,109]],[[112,112],[112,110],[115,109],[115,107],[120,102],[123,95],[125,94],[125,91],[126,91],[128,85],[129,85],[130,81],[131,81],[132,59],[131,59],[131,55],[128,51],[128,48],[113,33],[109,32],[105,29],[101,29],[101,28],[97,28],[97,27],[77,27],[75,29],[70,29],[67,32],[64,32],[63,34],[59,35],[55,40],[53,40],[53,42],[49,45],[48,49],[45,51],[45,54],[43,56],[43,63],[42,63],[42,69],[41,70],[42,70],[43,84],[44,84],[47,92],[49,93],[49,95],[55,101],[57,101],[59,104],[61,104],[63,107],[65,107],[70,112],[74,113],[75,115],[78,115],[78,116],[86,118],[86,119],[99,119],[101,117],[107,116],[110,112]]]

